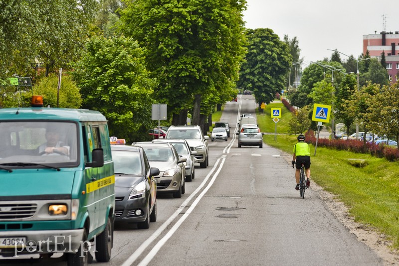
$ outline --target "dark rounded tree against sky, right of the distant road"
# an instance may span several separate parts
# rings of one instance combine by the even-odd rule
[[[269,28],[247,29],[246,36],[248,53],[238,86],[254,92],[260,109],[284,89],[292,57],[288,45]]]

